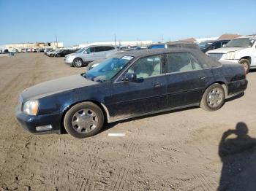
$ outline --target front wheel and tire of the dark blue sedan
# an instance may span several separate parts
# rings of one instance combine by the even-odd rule
[[[88,112],[86,110],[88,110]],[[82,111],[83,113],[80,114]],[[87,114],[87,116],[85,114]],[[96,116],[92,117],[94,114]],[[78,117],[76,117],[77,115]],[[82,118],[79,118],[81,116]],[[91,125],[89,120],[97,122],[97,125]],[[78,123],[79,125],[74,125],[74,123]],[[72,108],[69,109],[64,116],[64,128],[67,130],[67,133],[78,139],[94,136],[95,134],[99,133],[99,130],[101,130],[103,124],[104,114],[102,109],[89,101],[72,106]]]

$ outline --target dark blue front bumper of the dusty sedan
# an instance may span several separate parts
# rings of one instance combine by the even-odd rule
[[[31,133],[61,133],[61,114],[43,114],[32,116],[16,109],[16,118],[23,129]],[[51,125],[50,130],[37,130],[37,127]]]

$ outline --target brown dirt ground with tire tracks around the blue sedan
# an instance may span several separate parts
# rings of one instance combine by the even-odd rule
[[[247,75],[245,95],[217,112],[193,108],[116,122],[82,140],[68,134],[36,136],[20,128],[15,106],[23,89],[84,70],[43,53],[0,58],[0,190],[240,190],[241,186],[250,190],[254,186],[254,71]],[[237,126],[236,132],[225,133]],[[224,144],[225,136],[229,141]]]

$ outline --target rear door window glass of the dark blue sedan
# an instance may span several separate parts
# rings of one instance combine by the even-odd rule
[[[202,69],[194,56],[190,55],[188,52],[167,54],[167,63],[168,73]]]

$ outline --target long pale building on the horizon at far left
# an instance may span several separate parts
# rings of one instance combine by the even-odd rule
[[[34,49],[46,49],[46,48],[63,48],[63,42],[27,42],[27,43],[14,43],[5,44],[5,49],[9,51],[18,50],[18,52],[30,52]]]

